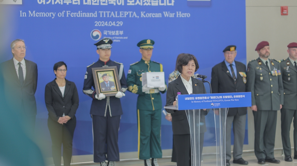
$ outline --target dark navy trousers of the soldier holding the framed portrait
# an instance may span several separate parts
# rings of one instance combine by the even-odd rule
[[[92,115],[95,163],[100,163],[105,160],[120,160],[118,150],[120,119],[120,115],[110,117],[109,111],[106,113],[106,117]]]

